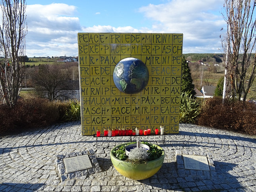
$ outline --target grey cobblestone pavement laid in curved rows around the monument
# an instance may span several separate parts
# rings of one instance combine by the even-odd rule
[[[255,136],[180,124],[179,134],[166,136],[165,145],[158,136],[141,140],[163,147],[165,161],[154,176],[137,181],[120,175],[110,160],[111,148],[127,137],[99,138],[96,148],[95,138],[81,136],[80,122],[0,137],[0,191],[256,191]],[[102,172],[60,182],[56,155],[87,149],[95,150]],[[180,174],[176,150],[210,153],[216,176]]]

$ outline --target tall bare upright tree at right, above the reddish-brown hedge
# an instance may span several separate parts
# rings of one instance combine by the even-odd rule
[[[246,101],[247,93],[256,72],[256,0],[225,0],[223,18],[227,23],[227,35],[223,49],[227,53],[227,80],[231,95]],[[241,60],[239,54],[242,54]]]

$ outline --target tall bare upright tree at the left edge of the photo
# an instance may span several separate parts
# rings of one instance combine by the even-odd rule
[[[14,107],[21,90],[25,73],[25,0],[0,0],[2,23],[0,24],[0,99]]]

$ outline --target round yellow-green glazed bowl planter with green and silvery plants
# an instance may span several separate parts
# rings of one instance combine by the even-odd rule
[[[161,147],[147,142],[149,150],[134,148],[130,150],[129,157],[125,154],[125,147],[132,143],[117,145],[111,150],[110,157],[115,169],[128,178],[143,180],[153,176],[161,168],[165,152]]]

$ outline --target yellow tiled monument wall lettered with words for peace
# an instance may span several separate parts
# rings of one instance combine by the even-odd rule
[[[78,33],[81,132],[160,125],[178,133],[183,34]],[[116,64],[128,57],[142,60],[149,71],[140,93],[119,91],[113,81]]]

